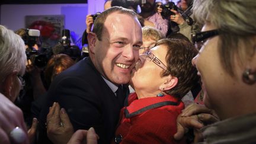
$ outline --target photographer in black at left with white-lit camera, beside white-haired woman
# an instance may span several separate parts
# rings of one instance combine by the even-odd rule
[[[27,55],[25,74],[23,76],[25,87],[20,91],[15,105],[21,108],[25,123],[27,127],[30,127],[33,120],[30,111],[31,103],[46,92],[41,78],[43,68],[38,67],[35,63],[36,59],[38,60],[36,57],[39,56],[41,50],[40,31],[20,28],[15,33],[23,39]]]

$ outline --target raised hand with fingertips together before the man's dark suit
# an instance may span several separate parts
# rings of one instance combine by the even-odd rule
[[[53,143],[67,143],[73,135],[73,126],[64,108],[53,103],[47,114],[47,136]]]

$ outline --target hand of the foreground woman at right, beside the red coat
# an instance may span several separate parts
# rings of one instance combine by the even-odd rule
[[[177,118],[177,133],[175,133],[174,139],[182,139],[190,128],[197,131],[197,133],[194,133],[197,134],[195,137],[200,137],[199,129],[218,120],[213,110],[201,104],[190,104]]]

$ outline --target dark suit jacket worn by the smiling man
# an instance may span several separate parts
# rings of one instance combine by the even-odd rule
[[[47,92],[47,104],[40,113],[38,143],[45,141],[46,116],[53,102],[58,102],[69,115],[74,130],[94,127],[98,143],[110,143],[119,121],[125,96],[116,97],[89,57],[56,76]]]

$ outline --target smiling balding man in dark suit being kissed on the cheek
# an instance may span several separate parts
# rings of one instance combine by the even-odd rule
[[[124,84],[130,81],[142,45],[136,13],[121,7],[107,9],[95,20],[88,43],[89,57],[60,73],[52,82],[46,107],[40,114],[38,143],[48,143],[44,140],[44,123],[53,102],[65,108],[75,130],[94,127],[100,136],[98,143],[110,143],[113,138],[125,99],[124,94],[116,91],[121,86],[125,92]]]

